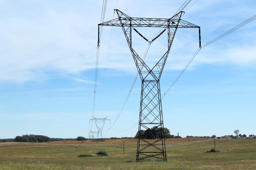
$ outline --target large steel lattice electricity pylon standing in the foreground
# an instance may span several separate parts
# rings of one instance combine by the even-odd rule
[[[138,130],[138,143],[136,161],[149,157],[160,158],[167,161],[164,141],[164,122],[162,114],[162,103],[159,80],[164,69],[167,56],[172,46],[175,33],[178,28],[199,28],[199,47],[201,47],[200,27],[181,19],[183,11],[175,14],[172,18],[132,18],[119,10],[115,10],[118,18],[103,22],[100,26],[121,26],[129,48],[132,52],[133,60],[141,78],[140,97],[140,118]],[[149,68],[143,59],[132,48],[132,29],[143,39],[148,41],[134,27],[161,27],[164,30],[159,33],[158,38],[164,31],[168,31],[168,49],[153,68]],[[99,36],[98,36],[99,37]],[[150,44],[152,41],[148,41]],[[98,46],[100,38],[98,39]],[[143,131],[142,131],[143,130]],[[148,140],[149,134],[154,134],[154,140]]]

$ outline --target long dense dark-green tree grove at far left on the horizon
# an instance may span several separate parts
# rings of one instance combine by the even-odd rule
[[[22,135],[16,136],[14,142],[48,142],[51,141],[50,137],[43,135]]]

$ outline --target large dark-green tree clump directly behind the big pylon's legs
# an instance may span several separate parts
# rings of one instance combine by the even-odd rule
[[[159,138],[159,134],[161,134],[161,128],[158,128],[157,126],[154,126],[151,129],[146,130],[140,130],[140,137],[143,139],[156,139]],[[139,131],[136,133],[134,138],[138,138]],[[170,134],[170,130],[167,128],[164,128],[164,138],[181,138],[179,135],[174,136]]]

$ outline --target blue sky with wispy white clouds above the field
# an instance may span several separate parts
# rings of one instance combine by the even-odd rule
[[[104,21],[117,18],[115,7],[131,17],[170,18],[184,2],[108,0]],[[0,138],[88,136],[102,3],[0,1]],[[201,27],[203,45],[254,16],[255,6],[254,0],[192,0],[182,19]],[[256,133],[255,27],[253,20],[202,48],[166,93],[164,127],[171,134],[224,136],[236,129],[242,135]],[[139,31],[150,39],[159,30]],[[144,54],[147,42],[136,33],[133,42]],[[154,65],[166,45],[164,34],[152,43],[148,65]],[[198,46],[198,29],[178,29],[160,80],[162,96]],[[113,27],[112,33],[111,27],[103,27],[98,69],[94,116],[111,120],[103,137],[134,137],[139,78],[115,122],[137,71],[121,27]]]

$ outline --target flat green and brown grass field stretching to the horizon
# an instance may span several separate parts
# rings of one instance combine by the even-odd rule
[[[123,141],[124,148],[123,151]],[[0,143],[0,170],[16,169],[256,169],[256,139],[218,139],[217,153],[205,153],[214,140],[167,139],[168,162],[145,159],[136,162],[136,139],[104,142]],[[107,157],[96,156],[99,150]],[[125,154],[123,154],[125,152]],[[93,155],[79,157],[80,154]]]

